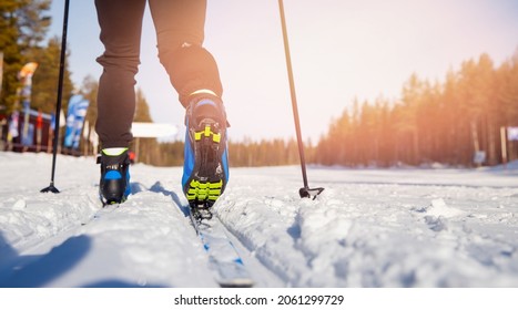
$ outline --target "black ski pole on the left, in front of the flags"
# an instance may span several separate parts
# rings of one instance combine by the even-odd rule
[[[52,142],[52,174],[50,177],[50,185],[43,189],[41,193],[60,193],[54,186],[54,173],[55,173],[55,157],[58,154],[58,144],[60,135],[60,112],[61,112],[61,96],[63,93],[63,76],[64,76],[64,56],[67,54],[67,28],[69,24],[69,2],[70,0],[64,0],[64,14],[63,14],[63,34],[61,38],[61,56],[60,56],[60,75],[58,80],[58,101],[55,103],[55,120],[54,120],[54,138]]]

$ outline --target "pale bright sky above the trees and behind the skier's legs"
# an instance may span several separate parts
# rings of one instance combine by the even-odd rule
[[[204,46],[223,82],[231,141],[295,137],[276,0],[209,0]],[[495,65],[518,49],[516,0],[284,0],[305,141],[316,142],[354,99],[397,100],[413,73],[444,81],[488,53]],[[53,0],[50,35],[61,37],[64,0]],[[102,51],[93,1],[72,0],[72,80],[98,79]],[[184,111],[159,62],[146,9],[136,75],[156,123],[183,128]],[[183,130],[177,138],[183,138]]]

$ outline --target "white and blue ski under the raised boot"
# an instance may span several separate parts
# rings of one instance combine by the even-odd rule
[[[223,224],[210,208],[189,208],[190,218],[209,256],[209,267],[223,288],[250,288],[252,278],[225,232]]]

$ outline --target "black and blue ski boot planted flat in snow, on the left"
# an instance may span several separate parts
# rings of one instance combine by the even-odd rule
[[[102,149],[101,156],[98,157],[98,164],[101,164],[99,196],[103,206],[125,202],[131,194],[128,148]]]

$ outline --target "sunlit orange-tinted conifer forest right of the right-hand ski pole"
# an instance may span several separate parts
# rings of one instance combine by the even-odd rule
[[[315,163],[390,166],[502,163],[501,128],[518,126],[518,51],[496,66],[488,54],[450,70],[444,82],[413,74],[399,100],[355,101],[318,143]],[[516,143],[507,143],[510,159]]]

